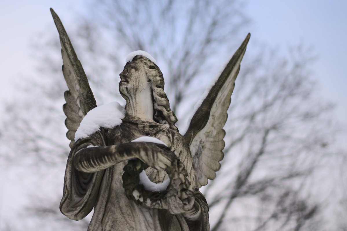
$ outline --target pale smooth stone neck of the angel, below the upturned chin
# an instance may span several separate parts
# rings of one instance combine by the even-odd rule
[[[151,88],[146,87],[141,91],[133,92],[132,97],[127,100],[125,110],[128,116],[153,121],[154,110]]]

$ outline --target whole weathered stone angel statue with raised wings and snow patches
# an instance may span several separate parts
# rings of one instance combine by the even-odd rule
[[[69,89],[63,110],[71,151],[60,211],[81,220],[94,209],[88,231],[209,231],[209,208],[199,188],[215,178],[224,156],[223,126],[250,34],[181,135],[152,56],[128,55],[119,74],[125,106],[96,107],[81,62],[51,13]]]

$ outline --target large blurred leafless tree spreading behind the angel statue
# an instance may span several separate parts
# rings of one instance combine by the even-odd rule
[[[119,99],[120,56],[142,49],[159,61],[171,108],[186,122],[196,95],[246,34],[241,33],[249,22],[243,5],[223,0],[95,1],[86,15],[78,16],[82,20],[74,22],[74,29],[65,25],[97,102]],[[40,76],[46,79],[29,82],[30,98],[8,106],[9,135],[0,139],[36,164],[63,168],[68,153],[61,110],[66,86],[58,36],[52,37],[41,37],[50,50],[40,54]],[[225,126],[225,159],[216,179],[202,188],[212,231],[311,229],[320,206],[311,196],[310,178],[334,132],[332,105],[315,98],[309,69],[313,61],[304,46],[286,54],[268,46],[247,51]],[[62,216],[58,207],[38,203],[31,211],[38,217]]]

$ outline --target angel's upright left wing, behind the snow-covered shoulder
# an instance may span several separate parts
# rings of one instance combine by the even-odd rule
[[[72,148],[79,124],[87,112],[96,107],[96,101],[64,26],[56,12],[52,8],[50,10],[59,32],[63,59],[62,71],[69,89],[64,92],[66,103],[63,105],[63,110],[67,117],[65,120],[65,126],[68,129],[66,137],[71,140],[70,148]]]

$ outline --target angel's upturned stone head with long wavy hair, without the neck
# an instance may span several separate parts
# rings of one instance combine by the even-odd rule
[[[154,121],[178,131],[175,126],[177,122],[176,115],[171,111],[169,100],[164,92],[163,73],[155,63],[143,55],[136,55],[131,62],[124,66],[124,70],[119,76],[121,78],[119,92],[127,103],[132,95],[136,94],[136,91],[150,87]]]

